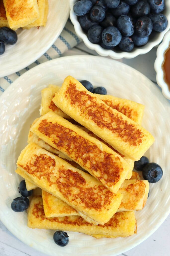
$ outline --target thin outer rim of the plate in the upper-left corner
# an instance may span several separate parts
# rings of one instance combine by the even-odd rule
[[[60,0],[59,0],[59,1],[60,1]],[[66,2],[67,2],[67,0],[66,0]],[[68,3],[67,3],[67,4],[68,4]],[[66,15],[65,15],[65,17],[63,18],[63,23],[61,24],[61,27],[59,28],[58,33],[56,34],[55,38],[50,42],[50,44],[48,44],[48,45],[44,48],[44,50],[43,50],[42,52],[39,52],[39,54],[37,54],[36,57],[33,57],[32,60],[29,61],[29,62],[26,64],[26,66],[25,66],[25,64],[24,64],[24,65],[21,64],[19,70],[18,70],[18,68],[15,69],[15,66],[14,66],[14,69],[13,69],[12,71],[10,71],[10,72],[7,72],[6,70],[3,71],[3,72],[1,71],[1,72],[0,72],[0,78],[5,77],[5,76],[10,76],[11,74],[14,74],[14,73],[16,73],[16,72],[18,72],[18,71],[24,69],[25,67],[31,65],[34,61],[38,60],[41,56],[43,56],[43,54],[44,54],[46,51],[49,50],[49,48],[51,47],[51,45],[54,44],[54,42],[57,40],[57,38],[58,38],[59,35],[61,34],[61,32],[62,32],[62,30],[63,30],[64,26],[66,25],[66,22],[67,22],[67,20],[68,20],[68,18],[69,18],[69,15],[70,15],[70,5],[68,4],[68,8],[66,9]],[[49,19],[49,18],[48,18],[48,19]],[[33,55],[33,56],[34,56],[34,55]],[[40,65],[41,65],[41,64],[40,64]],[[22,76],[22,75],[21,75],[21,76]]]

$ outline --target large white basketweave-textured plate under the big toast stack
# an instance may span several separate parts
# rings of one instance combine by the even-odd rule
[[[163,169],[162,179],[150,185],[145,208],[136,212],[137,234],[127,238],[95,239],[69,233],[62,248],[53,241],[54,230],[27,227],[27,212],[11,210],[19,196],[21,178],[15,173],[17,157],[27,144],[30,124],[39,116],[41,90],[50,83],[61,85],[71,75],[104,86],[108,94],[143,103],[143,126],[155,137],[146,155]],[[135,69],[114,60],[91,56],[70,56],[45,62],[19,77],[1,97],[1,220],[21,241],[46,255],[117,255],[147,239],[170,211],[170,107],[158,88]]]

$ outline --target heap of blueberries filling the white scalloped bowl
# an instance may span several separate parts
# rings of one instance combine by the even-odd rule
[[[166,29],[164,9],[164,0],[80,0],[73,6],[90,42],[126,52],[145,45],[152,31]]]

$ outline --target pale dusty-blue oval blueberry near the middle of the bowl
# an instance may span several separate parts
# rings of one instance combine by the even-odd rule
[[[121,15],[117,19],[117,28],[121,32],[122,36],[132,36],[134,33],[134,25],[130,17],[127,15]]]

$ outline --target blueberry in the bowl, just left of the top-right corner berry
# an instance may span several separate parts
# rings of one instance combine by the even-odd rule
[[[139,1],[131,8],[134,17],[147,16],[150,13],[150,5],[145,1]]]

